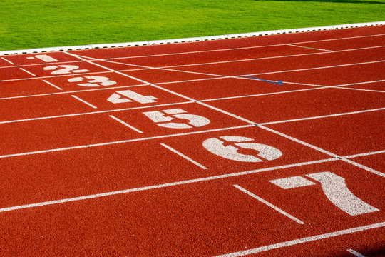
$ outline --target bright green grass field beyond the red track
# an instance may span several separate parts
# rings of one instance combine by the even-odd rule
[[[385,0],[2,0],[0,51],[385,20]]]

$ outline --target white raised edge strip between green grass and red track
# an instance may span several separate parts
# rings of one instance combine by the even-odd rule
[[[251,33],[229,34],[229,35],[219,35],[219,36],[202,36],[202,37],[185,38],[185,39],[138,41],[138,42],[113,43],[113,44],[88,44],[83,46],[59,46],[59,47],[48,47],[48,48],[41,48],[41,49],[0,51],[0,56],[14,55],[14,54],[35,54],[35,53],[52,52],[52,51],[76,51],[76,50],[86,50],[86,49],[101,49],[101,48],[115,48],[115,47],[128,47],[128,46],[148,46],[148,45],[155,45],[155,44],[188,43],[188,42],[209,41],[209,40],[218,40],[218,39],[237,39],[237,38],[244,38],[244,37],[250,37],[250,36],[291,34],[291,33],[302,33],[302,32],[311,32],[311,31],[326,31],[326,30],[332,30],[332,29],[350,29],[350,28],[356,28],[356,27],[362,27],[362,26],[378,26],[378,25],[385,25],[385,21],[365,22],[365,23],[357,23],[357,24],[341,24],[341,25],[332,25],[332,26],[318,26],[318,27],[299,28],[299,29],[279,29],[279,30],[272,30],[272,31],[257,31],[257,32],[251,32]]]

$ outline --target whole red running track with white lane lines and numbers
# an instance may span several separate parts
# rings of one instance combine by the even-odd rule
[[[0,255],[382,256],[384,42],[0,56]]]

